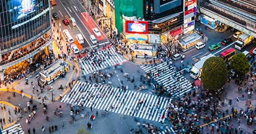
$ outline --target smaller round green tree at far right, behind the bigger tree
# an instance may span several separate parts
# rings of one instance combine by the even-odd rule
[[[250,67],[251,66],[248,63],[248,59],[243,53],[234,55],[233,59],[230,61],[230,68],[232,68],[239,75],[246,74]]]

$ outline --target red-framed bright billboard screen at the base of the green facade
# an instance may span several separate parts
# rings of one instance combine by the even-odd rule
[[[147,21],[126,21],[126,33],[148,34]]]

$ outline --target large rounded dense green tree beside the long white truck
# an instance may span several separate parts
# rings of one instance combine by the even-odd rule
[[[216,91],[227,82],[227,66],[223,59],[211,57],[202,66],[202,84],[209,90]]]

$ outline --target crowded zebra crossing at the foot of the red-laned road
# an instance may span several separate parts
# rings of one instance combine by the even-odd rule
[[[126,59],[115,52],[114,47],[99,50],[98,52],[93,53],[90,56],[85,56],[79,60],[84,75],[126,62]]]

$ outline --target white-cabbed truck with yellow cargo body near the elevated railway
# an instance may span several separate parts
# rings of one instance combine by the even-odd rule
[[[250,44],[254,40],[254,37],[249,36],[248,34],[242,34],[238,37],[238,40],[235,42],[235,48],[241,50],[246,45]]]

